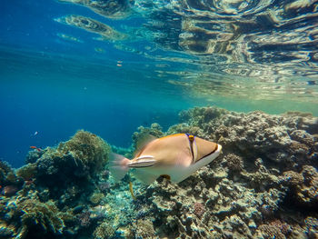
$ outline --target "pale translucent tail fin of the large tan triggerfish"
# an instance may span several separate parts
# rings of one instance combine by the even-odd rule
[[[109,171],[114,177],[114,180],[118,182],[128,172],[129,159],[123,155],[111,153],[109,161]]]

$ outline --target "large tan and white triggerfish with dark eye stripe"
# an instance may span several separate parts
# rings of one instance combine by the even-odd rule
[[[144,142],[131,160],[111,154],[109,170],[115,182],[134,169],[134,176],[144,184],[152,184],[160,176],[178,184],[222,152],[222,145],[192,134],[171,134]]]

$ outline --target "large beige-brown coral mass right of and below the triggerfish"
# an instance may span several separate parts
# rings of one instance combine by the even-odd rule
[[[240,114],[216,107],[194,108],[180,117],[183,123],[166,134],[198,135],[222,144],[224,154],[180,184],[162,179],[137,194],[138,200],[145,200],[148,216],[154,217],[158,237],[315,234],[317,221],[311,221],[311,230],[298,222],[317,217],[317,118],[300,113]]]

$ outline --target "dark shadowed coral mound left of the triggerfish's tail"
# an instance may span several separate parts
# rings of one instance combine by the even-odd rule
[[[94,227],[97,219],[86,207],[104,197],[98,183],[107,178],[109,152],[103,139],[81,130],[57,147],[27,154],[28,164],[17,170],[1,162],[0,237],[73,238]]]

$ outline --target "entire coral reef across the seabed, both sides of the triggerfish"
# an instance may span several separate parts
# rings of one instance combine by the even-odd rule
[[[114,183],[110,146],[84,131],[31,151],[20,169],[0,162],[0,238],[317,238],[316,117],[204,107],[180,119],[167,132],[139,127],[128,149],[112,146],[132,157],[147,135],[175,133],[223,145],[179,184],[145,186],[130,174]]]

